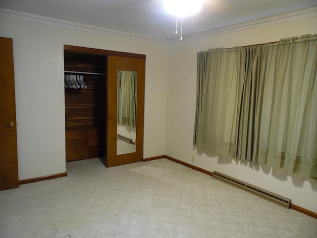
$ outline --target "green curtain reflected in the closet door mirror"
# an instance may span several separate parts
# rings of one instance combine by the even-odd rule
[[[118,71],[118,125],[136,126],[137,73]]]

